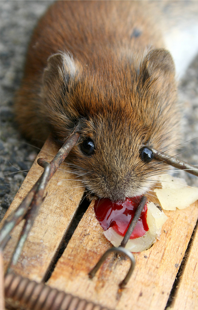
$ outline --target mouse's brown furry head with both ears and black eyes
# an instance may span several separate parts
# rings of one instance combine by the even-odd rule
[[[145,193],[163,166],[143,146],[176,143],[174,64],[164,49],[148,52],[138,70],[127,60],[89,71],[72,56],[52,55],[44,71],[45,118],[64,142],[81,120],[81,140],[68,160],[90,193],[124,200]]]

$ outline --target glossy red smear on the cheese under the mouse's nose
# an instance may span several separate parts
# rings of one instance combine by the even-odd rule
[[[94,211],[97,220],[104,230],[109,227],[121,236],[125,236],[129,224],[133,219],[141,197],[126,198],[124,202],[112,202],[109,199],[98,199],[94,204]],[[131,234],[130,239],[144,236],[149,230],[146,222],[147,206],[144,206],[140,218]]]

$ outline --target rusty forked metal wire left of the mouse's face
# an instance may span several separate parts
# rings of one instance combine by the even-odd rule
[[[44,190],[48,181],[58,170],[58,167],[65,160],[73,146],[78,142],[80,138],[80,128],[80,124],[76,126],[75,130],[67,137],[65,143],[50,163],[46,162],[43,158],[39,158],[37,160],[38,164],[44,168],[43,174],[18,208],[4,221],[0,235],[1,248],[6,246],[12,229],[25,217],[25,224],[23,226],[19,241],[15,247],[8,271],[16,265],[19,259],[25,240],[27,239],[28,233],[34,223],[35,217],[38,214],[39,207],[43,202]]]

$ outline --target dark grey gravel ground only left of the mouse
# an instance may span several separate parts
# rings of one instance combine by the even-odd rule
[[[30,169],[38,149],[17,131],[13,102],[25,54],[38,18],[53,1],[1,1],[1,219]],[[19,172],[23,170],[24,172]]]

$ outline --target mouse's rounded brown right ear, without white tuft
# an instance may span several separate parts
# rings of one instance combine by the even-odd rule
[[[143,61],[144,80],[155,79],[164,75],[175,75],[175,65],[169,51],[163,48],[155,49],[147,53]]]

